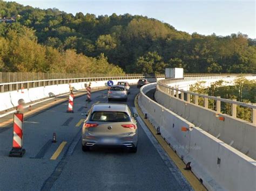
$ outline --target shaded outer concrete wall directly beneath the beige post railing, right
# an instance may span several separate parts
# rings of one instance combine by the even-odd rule
[[[155,98],[164,107],[200,126],[201,129],[218,137],[226,144],[232,144],[232,147],[254,160],[256,159],[256,125],[229,115],[217,115],[217,111],[180,100],[159,88],[155,93]],[[225,117],[225,121],[220,121],[219,116]]]

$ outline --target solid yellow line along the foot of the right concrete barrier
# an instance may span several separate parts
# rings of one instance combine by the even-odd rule
[[[144,119],[144,114],[139,108],[138,105],[138,95],[136,96],[134,100],[134,105],[138,111],[138,114],[140,118],[144,121],[147,128],[151,131],[153,136],[157,139],[158,143],[164,148],[165,152],[169,155],[169,157],[173,160],[173,162],[176,164],[176,166],[179,168],[180,172],[184,175],[184,177],[187,179],[188,182],[190,182],[190,185],[193,187],[194,190],[207,190],[204,185],[198,180],[196,175],[193,174],[191,171],[186,171],[185,163],[179,158],[179,156],[172,150],[172,148],[166,143],[166,141],[161,137],[160,135],[157,135],[157,130],[154,129],[153,125],[149,122],[148,119]]]

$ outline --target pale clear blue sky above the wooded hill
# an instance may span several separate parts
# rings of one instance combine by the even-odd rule
[[[179,31],[227,36],[241,32],[256,38],[254,0],[17,0],[17,3],[61,11],[117,15],[130,13],[156,18]]]

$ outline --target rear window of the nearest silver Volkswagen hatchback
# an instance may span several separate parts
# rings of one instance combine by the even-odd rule
[[[93,122],[130,122],[131,119],[126,112],[119,111],[95,111],[90,117]]]

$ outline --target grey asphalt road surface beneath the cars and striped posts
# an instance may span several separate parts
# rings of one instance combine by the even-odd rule
[[[134,111],[132,87],[127,104]],[[75,98],[74,113],[58,104],[24,122],[23,158],[9,158],[12,128],[0,128],[0,190],[186,190],[192,189],[138,118],[138,151],[97,149],[83,152],[79,121],[92,103],[106,103],[107,91]],[[117,102],[115,102],[117,103]],[[124,102],[120,102],[124,103]],[[52,133],[57,143],[51,143]],[[66,144],[65,144],[66,143]],[[60,145],[63,150],[51,160]]]

